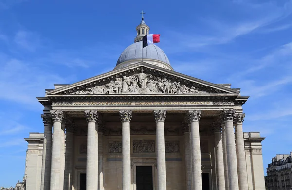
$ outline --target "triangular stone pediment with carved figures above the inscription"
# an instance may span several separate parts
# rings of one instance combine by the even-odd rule
[[[47,95],[239,94],[239,91],[181,73],[138,63],[63,86]]]

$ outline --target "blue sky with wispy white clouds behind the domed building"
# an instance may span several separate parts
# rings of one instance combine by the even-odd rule
[[[0,0],[0,186],[22,179],[23,138],[43,132],[35,97],[112,70],[142,9],[175,71],[250,96],[244,131],[266,137],[265,169],[292,151],[292,0]]]

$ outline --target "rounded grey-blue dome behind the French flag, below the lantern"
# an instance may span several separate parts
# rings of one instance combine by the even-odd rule
[[[117,65],[120,65],[124,62],[132,61],[141,61],[142,60],[142,41],[135,42],[129,45],[124,52],[120,55]],[[163,62],[161,64],[166,65],[166,69],[171,68],[170,62],[162,49],[154,44],[149,44],[143,48],[143,61],[145,62]],[[160,64],[160,65],[161,65]],[[156,65],[156,64],[154,64]],[[167,67],[168,66],[168,67]],[[125,66],[124,66],[125,67]]]

